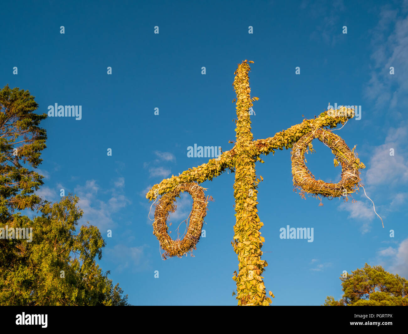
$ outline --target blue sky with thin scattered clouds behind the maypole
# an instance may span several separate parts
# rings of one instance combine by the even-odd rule
[[[232,83],[244,59],[255,61],[249,73],[251,95],[259,97],[251,116],[255,139],[313,118],[329,102],[361,105],[361,119],[335,133],[350,148],[357,145],[367,166],[362,182],[385,226],[363,189],[355,203],[325,199],[319,207],[293,192],[289,151],[266,156],[256,165],[264,177],[258,210],[262,250],[272,252],[263,259],[273,305],[339,299],[343,270],[365,262],[408,278],[407,1],[48,1],[7,2],[2,9],[2,86],[28,89],[39,113],[55,103],[82,105],[81,120],[50,117],[42,124],[48,143],[39,193],[57,201],[63,188],[80,197],[82,223],[97,225],[107,243],[102,269],[111,270],[133,305],[236,305],[234,175],[202,184],[215,201],[194,257],[162,260],[145,193],[207,162],[188,158],[188,146],[232,148]],[[341,169],[330,150],[318,141],[313,147],[309,169],[338,182]],[[187,218],[191,199],[177,204],[173,226]],[[313,227],[313,242],[280,239],[286,225]]]

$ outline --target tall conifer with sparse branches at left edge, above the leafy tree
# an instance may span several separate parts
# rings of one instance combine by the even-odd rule
[[[0,90],[0,206],[1,215],[14,209],[33,209],[41,199],[34,194],[43,184],[42,176],[25,165],[42,162],[47,132],[39,126],[47,114],[34,111],[38,104],[28,90]]]

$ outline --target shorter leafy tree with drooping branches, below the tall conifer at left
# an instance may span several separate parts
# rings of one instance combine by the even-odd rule
[[[31,242],[0,239],[0,305],[128,305],[109,272],[95,263],[105,246],[99,229],[76,228],[82,217],[78,200],[69,194],[44,204],[33,220],[15,213],[7,222],[33,233]]]

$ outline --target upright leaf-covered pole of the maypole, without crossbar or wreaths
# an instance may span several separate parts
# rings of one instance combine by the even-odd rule
[[[268,264],[261,260],[262,241],[259,229],[263,226],[258,217],[257,184],[255,183],[255,152],[249,149],[253,141],[249,108],[252,107],[248,72],[245,60],[235,71],[234,89],[237,94],[237,142],[235,144],[235,217],[234,251],[238,255],[239,272],[234,272],[237,283],[238,305],[269,305],[262,272]]]

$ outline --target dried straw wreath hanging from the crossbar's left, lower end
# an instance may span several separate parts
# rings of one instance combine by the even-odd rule
[[[204,217],[206,215],[207,201],[204,195],[204,188],[197,183],[182,183],[173,191],[165,193],[156,204],[153,234],[160,242],[160,246],[165,251],[164,258],[178,256],[182,257],[188,251],[196,249],[200,240]],[[180,192],[187,191],[193,197],[193,208],[189,215],[190,221],[186,235],[182,240],[171,239],[167,226],[167,218],[170,212],[175,211],[175,198],[180,197]]]

